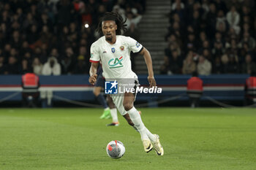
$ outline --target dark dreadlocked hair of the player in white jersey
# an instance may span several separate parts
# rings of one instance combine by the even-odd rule
[[[113,20],[116,22],[116,35],[121,35],[121,30],[123,30],[124,32],[127,31],[127,24],[125,24],[125,22],[127,21],[127,18],[125,18],[125,20],[121,17],[120,14],[118,14],[118,12],[105,12],[105,15],[100,18],[99,20],[99,24],[97,26],[97,31],[99,33],[102,34],[102,21],[105,20]]]

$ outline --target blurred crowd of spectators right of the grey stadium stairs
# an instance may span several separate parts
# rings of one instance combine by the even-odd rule
[[[254,0],[173,0],[161,74],[256,72]]]

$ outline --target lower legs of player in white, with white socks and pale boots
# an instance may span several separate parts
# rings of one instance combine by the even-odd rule
[[[132,123],[135,128],[140,132],[141,140],[143,141],[144,150],[149,152],[152,149],[151,142],[154,145],[154,149],[157,155],[164,155],[164,150],[159,142],[159,136],[157,134],[151,134],[150,131],[143,124],[140,114],[137,109],[133,106],[135,101],[135,95],[133,93],[124,93],[124,109],[128,112]]]

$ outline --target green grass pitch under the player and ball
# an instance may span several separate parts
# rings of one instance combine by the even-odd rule
[[[256,169],[256,109],[140,110],[162,157],[143,151],[123,117],[107,127],[102,109],[0,109],[0,169]],[[126,147],[117,160],[105,150],[114,139]]]

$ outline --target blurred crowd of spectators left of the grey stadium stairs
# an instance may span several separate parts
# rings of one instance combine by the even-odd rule
[[[138,38],[145,0],[1,0],[0,74],[88,74],[99,18],[115,10]]]

